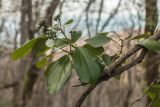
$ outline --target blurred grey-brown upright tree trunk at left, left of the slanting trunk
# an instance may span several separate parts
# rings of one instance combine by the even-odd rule
[[[31,14],[29,14],[29,11],[32,10],[30,8],[31,5],[31,0],[22,0],[21,2],[21,40],[20,44],[24,44],[26,40],[28,39],[30,35],[29,31],[29,24],[32,22],[31,21]],[[30,10],[28,10],[30,8]],[[31,22],[30,22],[31,21]],[[24,72],[26,71],[26,59],[23,58],[20,60],[20,66],[19,66],[19,75],[16,76],[16,80],[18,81],[18,85],[13,87],[13,103],[14,107],[21,107],[22,106],[22,79]]]

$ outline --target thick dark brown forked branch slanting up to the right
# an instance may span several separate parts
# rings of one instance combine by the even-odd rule
[[[154,40],[159,40],[160,39],[160,31],[158,31],[155,35],[153,35],[151,37]],[[137,57],[135,60],[133,60],[132,62],[130,62],[129,64],[126,64],[122,67],[119,67],[119,65],[121,65],[125,60],[127,60],[130,56],[132,56],[133,54],[137,53],[139,50],[142,49],[141,54],[139,55],[139,57]],[[111,64],[108,69],[104,70],[104,73],[100,76],[98,82],[93,85],[90,86],[78,99],[78,101],[76,102],[75,107],[80,107],[81,104],[83,103],[83,101],[85,100],[85,98],[87,97],[88,94],[90,94],[90,92],[96,88],[96,86],[98,86],[101,82],[103,81],[107,81],[110,78],[126,71],[127,69],[137,65],[138,63],[141,63],[142,60],[144,59],[145,55],[147,54],[147,49],[136,45],[134,48],[132,48],[130,51],[128,51],[125,55],[123,55],[122,57],[118,58],[113,64]]]

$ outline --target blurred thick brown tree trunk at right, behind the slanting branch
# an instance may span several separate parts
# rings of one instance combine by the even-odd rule
[[[154,30],[158,24],[158,8],[157,8],[157,0],[145,0],[146,5],[146,24],[145,24],[145,32],[154,33]],[[159,64],[156,63],[154,57],[156,53],[149,52],[146,60],[145,60],[145,68],[146,68],[146,80],[147,85],[150,85],[154,79],[158,76],[158,67]],[[150,99],[148,99],[148,103]]]

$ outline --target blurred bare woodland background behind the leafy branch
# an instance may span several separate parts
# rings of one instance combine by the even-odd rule
[[[13,50],[40,34],[40,20],[47,22],[47,28],[57,14],[62,22],[73,18],[68,29],[82,30],[84,38],[109,31],[116,31],[122,38],[134,37],[154,32],[159,22],[159,4],[159,0],[0,0],[0,107],[73,107],[87,87],[72,87],[79,84],[73,74],[65,88],[55,96],[49,95],[45,68],[35,67],[35,56],[16,62],[10,58]],[[126,48],[131,46],[128,43]],[[112,54],[119,47],[111,43],[105,49]],[[100,84],[82,106],[130,107],[158,75],[159,59],[159,54],[149,53],[144,63],[123,73],[120,80],[113,78]],[[146,107],[149,100],[144,97],[133,107]]]

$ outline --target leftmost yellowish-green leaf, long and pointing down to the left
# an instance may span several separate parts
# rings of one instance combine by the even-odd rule
[[[22,45],[20,48],[16,49],[12,54],[11,57],[14,60],[17,60],[25,55],[27,55],[32,47],[34,46],[34,43],[37,41],[38,38],[34,38],[30,41],[28,41],[27,43],[25,43],[24,45]]]

